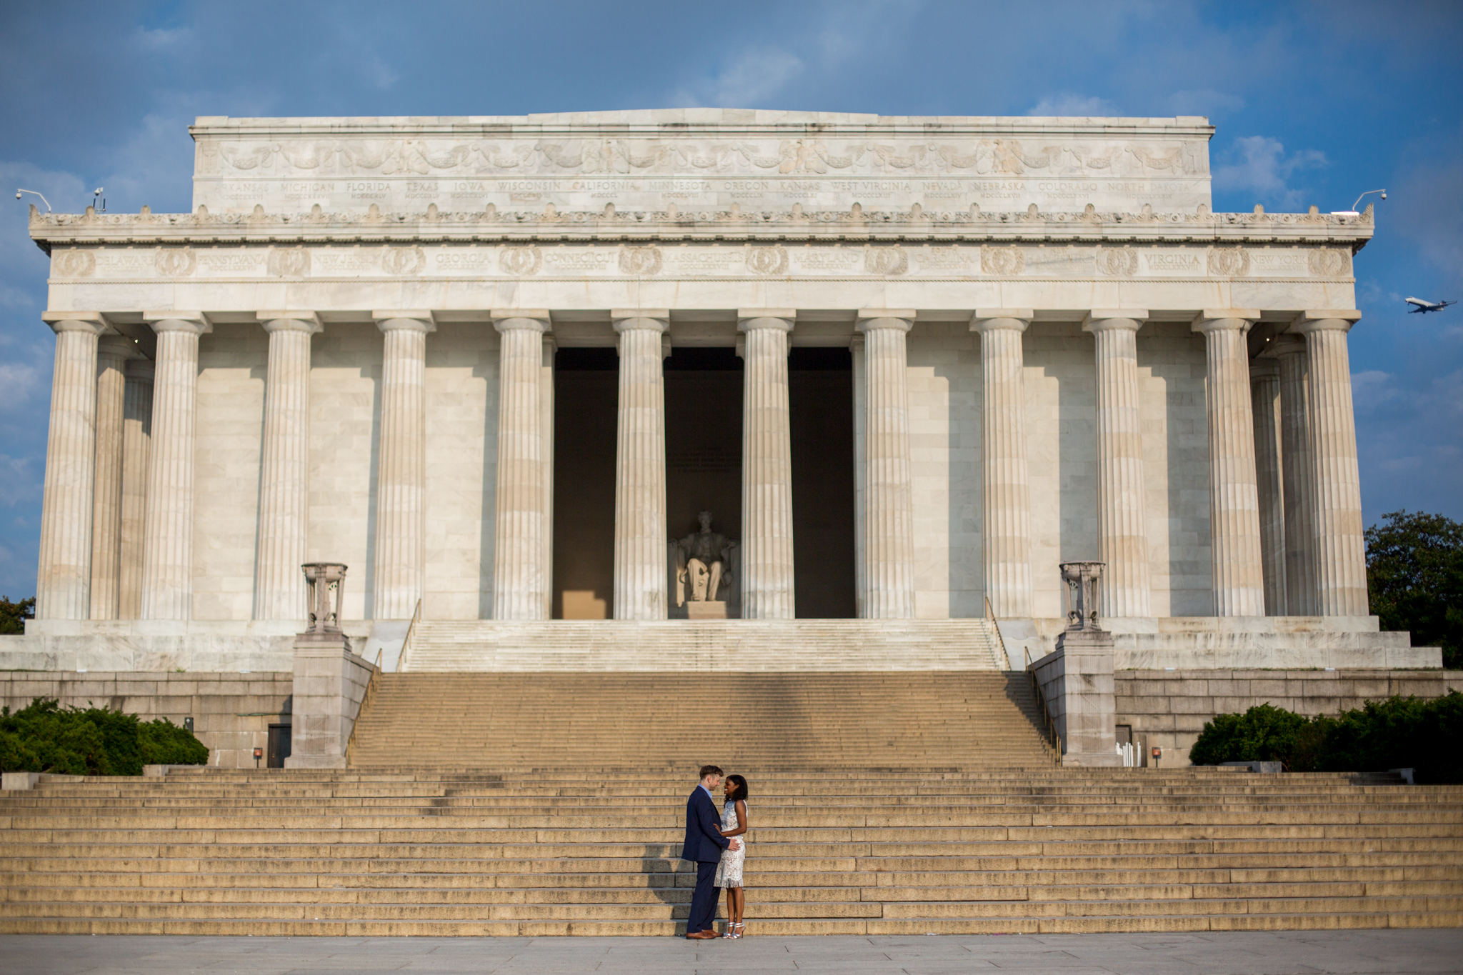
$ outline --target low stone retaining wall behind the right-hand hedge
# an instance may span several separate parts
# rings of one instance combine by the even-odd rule
[[[1163,766],[1188,765],[1189,746],[1214,715],[1274,705],[1298,715],[1336,715],[1393,694],[1432,699],[1463,690],[1463,671],[1402,669],[1124,669],[1113,674],[1119,725]]]

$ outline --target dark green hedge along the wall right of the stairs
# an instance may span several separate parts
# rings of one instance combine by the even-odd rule
[[[1463,694],[1388,697],[1336,718],[1257,705],[1206,724],[1189,762],[1283,762],[1287,772],[1412,767],[1418,782],[1463,782]]]

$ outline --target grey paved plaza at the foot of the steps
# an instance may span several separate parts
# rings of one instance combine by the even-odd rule
[[[1463,931],[926,937],[281,938],[0,936],[6,975],[183,972],[1459,972]]]

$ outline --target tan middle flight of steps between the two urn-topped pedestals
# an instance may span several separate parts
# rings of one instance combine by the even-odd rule
[[[377,674],[353,767],[1050,766],[1021,672]]]

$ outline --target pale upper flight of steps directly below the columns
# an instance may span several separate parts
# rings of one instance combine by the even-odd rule
[[[1005,667],[990,620],[418,620],[398,669],[832,672]]]

